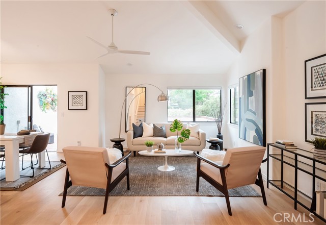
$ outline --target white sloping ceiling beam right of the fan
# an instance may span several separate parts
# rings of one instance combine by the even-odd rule
[[[203,1],[180,1],[193,13],[216,37],[233,53],[241,52],[240,41],[225,27],[224,23],[209,9]]]

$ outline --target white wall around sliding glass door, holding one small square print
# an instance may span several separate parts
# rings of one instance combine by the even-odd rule
[[[99,87],[97,64],[3,64],[3,84],[55,84],[58,85],[58,151],[67,145],[98,146],[104,140],[100,129],[99,102],[104,92]],[[88,110],[68,110],[68,91],[88,91]],[[102,116],[104,118],[104,116]],[[102,119],[103,119],[102,118]],[[104,121],[103,121],[104,123]],[[100,133],[99,130],[102,130]],[[102,143],[102,141],[101,141]]]

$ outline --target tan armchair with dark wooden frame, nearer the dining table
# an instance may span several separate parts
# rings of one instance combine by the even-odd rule
[[[102,147],[68,146],[63,148],[63,154],[65,161],[61,162],[67,164],[67,171],[62,208],[65,207],[67,190],[72,185],[106,189],[103,214],[106,213],[108,194],[125,176],[127,189],[130,189],[128,158],[131,152],[112,164],[107,149]]]

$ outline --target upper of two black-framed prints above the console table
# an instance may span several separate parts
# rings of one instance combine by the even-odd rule
[[[326,97],[326,54],[305,61],[305,98]]]

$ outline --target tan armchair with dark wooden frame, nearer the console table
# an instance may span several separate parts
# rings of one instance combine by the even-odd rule
[[[202,177],[225,195],[229,215],[232,215],[228,189],[256,184],[260,187],[264,205],[267,206],[260,165],[265,154],[265,147],[237,147],[229,148],[223,161],[213,162],[197,153],[197,183]],[[201,161],[204,161],[201,163]],[[257,179],[258,176],[258,179]]]

